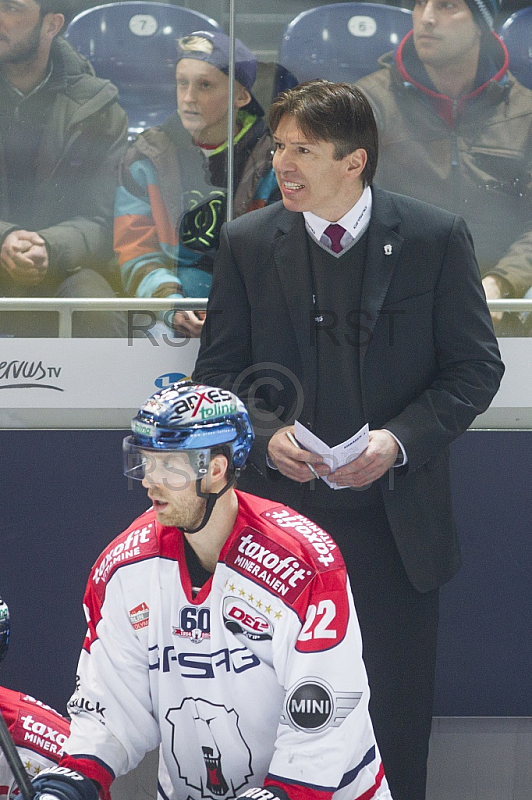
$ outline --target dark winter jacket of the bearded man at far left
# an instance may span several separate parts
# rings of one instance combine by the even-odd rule
[[[37,231],[48,248],[48,278],[59,283],[82,267],[107,275],[127,118],[116,88],[96,78],[88,61],[62,38],[52,45],[51,65],[46,83],[22,100],[0,78],[0,244],[16,228]],[[46,119],[22,222],[12,214],[4,135],[21,119],[38,122],[39,108]]]

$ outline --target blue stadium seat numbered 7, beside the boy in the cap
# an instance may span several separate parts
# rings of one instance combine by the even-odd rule
[[[133,137],[175,111],[176,40],[193,31],[219,29],[197,11],[126,0],[82,11],[65,36],[99,77],[118,88]]]

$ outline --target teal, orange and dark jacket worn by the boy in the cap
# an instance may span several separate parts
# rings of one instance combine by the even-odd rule
[[[240,111],[235,136],[234,216],[280,199],[272,137]],[[132,297],[207,297],[227,199],[227,143],[206,153],[177,113],[142,133],[121,165],[114,247]]]

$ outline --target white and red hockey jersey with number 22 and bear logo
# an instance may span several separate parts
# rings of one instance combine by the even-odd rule
[[[160,743],[173,800],[263,784],[291,800],[391,800],[338,547],[291,509],[237,495],[195,596],[183,534],[153,509],[96,562],[61,763],[106,790]]]

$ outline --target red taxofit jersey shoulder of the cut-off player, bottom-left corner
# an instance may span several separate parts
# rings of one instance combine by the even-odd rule
[[[53,767],[63,755],[70,730],[67,719],[29,694],[0,686],[0,710],[30,778]],[[19,788],[0,750],[0,800],[13,800]]]

